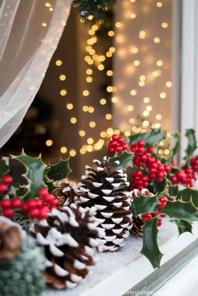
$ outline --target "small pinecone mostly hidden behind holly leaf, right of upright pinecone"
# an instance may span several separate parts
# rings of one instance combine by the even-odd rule
[[[130,192],[130,197],[132,200],[134,200],[136,197],[139,197],[140,195],[154,196],[154,194],[149,192],[149,190],[147,188],[144,188],[141,191],[138,189],[134,189]],[[143,221],[141,215],[139,215],[137,217],[133,216],[133,227],[131,229],[131,233],[133,235],[136,235],[136,234],[143,235],[143,231],[142,231],[143,225],[144,225],[144,221]]]

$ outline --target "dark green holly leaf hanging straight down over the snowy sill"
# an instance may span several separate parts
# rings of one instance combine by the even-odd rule
[[[140,252],[151,262],[154,269],[160,268],[160,261],[163,256],[157,244],[157,234],[159,231],[157,229],[157,222],[157,218],[144,222],[142,226],[143,246]]]

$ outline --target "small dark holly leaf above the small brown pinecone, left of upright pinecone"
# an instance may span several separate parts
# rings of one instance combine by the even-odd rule
[[[50,170],[47,172],[47,177],[50,180],[56,182],[67,178],[71,171],[72,170],[69,168],[69,158],[66,160],[60,159],[55,165],[50,165]]]

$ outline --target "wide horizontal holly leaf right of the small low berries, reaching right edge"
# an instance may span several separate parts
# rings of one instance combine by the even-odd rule
[[[183,202],[182,200],[167,201],[161,209],[160,214],[165,214],[171,219],[186,220],[189,222],[198,221],[198,210],[193,205],[192,200]]]

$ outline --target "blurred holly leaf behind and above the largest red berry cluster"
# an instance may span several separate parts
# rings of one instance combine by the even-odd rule
[[[136,133],[133,136],[129,136],[129,145],[135,144],[140,140],[145,141],[145,147],[153,146],[159,143],[161,140],[166,139],[166,131],[161,131],[160,128],[152,128],[148,133]]]

